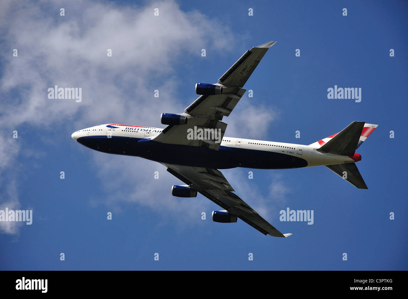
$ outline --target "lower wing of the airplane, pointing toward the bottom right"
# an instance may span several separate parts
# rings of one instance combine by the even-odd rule
[[[292,234],[282,234],[235,193],[221,171],[212,168],[180,166],[164,164],[167,171],[180,179],[190,188],[197,190],[215,204],[225,209],[228,213],[237,215],[239,219],[246,222],[264,235],[274,237],[288,237]]]

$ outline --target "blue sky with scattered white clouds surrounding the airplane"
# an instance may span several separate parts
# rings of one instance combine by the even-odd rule
[[[407,270],[406,2],[0,7],[0,209],[33,210],[31,225],[0,223],[1,270]],[[217,82],[246,50],[271,40],[244,86],[254,96],[223,120],[226,136],[311,144],[353,121],[379,125],[357,150],[368,190],[323,166],[222,171],[288,238],[240,220],[212,222],[221,208],[202,195],[172,197],[180,181],[161,164],[71,139],[104,123],[163,128],[160,114],[182,113],[197,98],[195,83]],[[82,87],[82,102],[48,99],[55,84]],[[335,85],[361,88],[361,102],[329,100]],[[313,210],[313,225],[279,221],[287,207]]]

